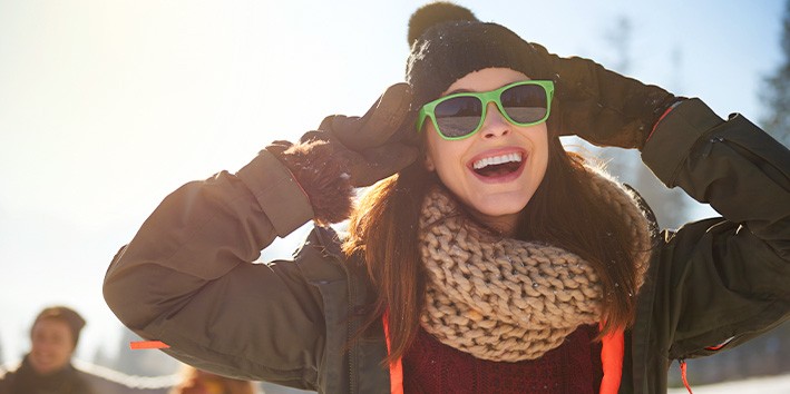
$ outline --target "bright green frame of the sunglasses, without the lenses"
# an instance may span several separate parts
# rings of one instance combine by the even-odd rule
[[[543,87],[544,90],[546,91],[546,115],[543,118],[540,118],[539,120],[521,124],[521,122],[513,120],[513,118],[510,118],[510,116],[507,115],[507,111],[503,108],[503,104],[500,100],[501,93],[507,89],[510,89],[515,86],[521,86],[521,85],[538,85],[538,86]],[[433,110],[441,102],[452,99],[452,98],[456,98],[456,97],[475,97],[475,98],[479,99],[482,102],[482,114],[480,114],[480,121],[477,124],[477,127],[475,128],[475,130],[472,130],[469,134],[466,134],[464,136],[460,136],[460,137],[448,137],[441,132],[439,125],[436,122],[436,115],[433,114]],[[479,91],[479,92],[465,91],[465,92],[460,92],[460,93],[453,93],[453,95],[440,97],[433,101],[426,104],[425,106],[422,106],[422,108],[420,108],[420,111],[417,116],[417,125],[416,125],[417,132],[420,132],[422,130],[422,126],[426,122],[426,118],[430,117],[431,121],[433,122],[433,128],[439,134],[439,136],[441,136],[441,138],[443,138],[446,140],[450,140],[450,141],[469,138],[469,137],[474,136],[477,131],[480,131],[480,128],[482,127],[482,124],[486,120],[486,111],[488,109],[489,102],[496,104],[497,108],[499,108],[499,114],[501,114],[505,117],[505,119],[507,119],[507,121],[509,121],[513,125],[516,125],[516,126],[538,125],[538,124],[546,121],[546,119],[548,119],[549,114],[552,114],[552,99],[553,98],[554,98],[554,81],[531,80],[531,79],[526,80],[526,81],[513,82],[513,83],[506,85],[506,86],[504,86],[499,89],[496,89],[496,90]]]

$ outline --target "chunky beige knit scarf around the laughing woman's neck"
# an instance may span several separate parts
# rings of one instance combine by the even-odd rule
[[[603,174],[595,191],[635,232],[637,288],[650,249],[648,223],[634,196]],[[582,324],[599,322],[602,288],[591,265],[558,247],[491,239],[458,215],[445,191],[427,196],[420,221],[429,273],[421,325],[443,344],[490,361],[539,358]]]

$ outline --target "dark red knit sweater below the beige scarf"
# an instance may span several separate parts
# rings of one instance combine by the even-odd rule
[[[403,390],[411,393],[598,392],[603,370],[597,326],[583,326],[557,348],[534,361],[497,363],[475,358],[420,329],[403,357]]]

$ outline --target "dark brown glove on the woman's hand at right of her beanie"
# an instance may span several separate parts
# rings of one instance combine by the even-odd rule
[[[661,116],[683,99],[593,60],[562,58],[537,43],[528,47],[535,68],[530,77],[555,82],[562,135],[576,135],[597,146],[642,149]]]

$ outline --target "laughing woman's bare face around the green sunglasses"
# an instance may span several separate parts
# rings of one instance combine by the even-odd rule
[[[466,75],[442,96],[459,91],[495,90],[527,79],[524,73],[508,68],[487,68]],[[436,170],[445,186],[471,208],[480,220],[511,233],[518,213],[527,206],[546,174],[546,122],[515,126],[503,117],[494,102],[489,102],[482,127],[469,138],[445,140],[431,122],[427,125],[426,167]],[[515,162],[486,166],[490,159]],[[475,169],[475,164],[477,167],[484,165],[484,168]]]

